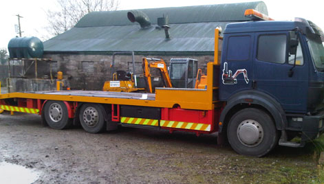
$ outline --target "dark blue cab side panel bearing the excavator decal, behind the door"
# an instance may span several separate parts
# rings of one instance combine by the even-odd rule
[[[219,100],[252,89],[254,33],[224,34]]]

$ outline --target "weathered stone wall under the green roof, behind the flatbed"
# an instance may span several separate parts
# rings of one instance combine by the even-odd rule
[[[142,58],[144,56],[135,56],[136,74],[143,73]],[[171,58],[193,58],[198,60],[198,68],[206,73],[207,62],[213,61],[213,56],[145,56],[147,58],[162,58],[169,66]],[[45,54],[44,58],[52,58],[56,63],[54,71],[62,71],[64,76],[71,76],[69,82],[72,89],[102,90],[106,80],[111,80],[111,55],[91,55],[91,54]],[[131,56],[116,55],[116,70],[132,69]],[[43,71],[47,70],[48,65],[41,66]]]

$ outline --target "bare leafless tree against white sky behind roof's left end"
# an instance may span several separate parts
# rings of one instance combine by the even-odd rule
[[[47,11],[47,20],[50,24],[48,31],[52,35],[61,34],[78,23],[78,21],[94,11],[117,10],[118,0],[56,0],[59,10]]]

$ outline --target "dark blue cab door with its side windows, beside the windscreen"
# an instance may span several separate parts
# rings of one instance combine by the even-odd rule
[[[288,32],[255,35],[253,88],[274,97],[287,112],[305,113],[308,69],[303,59],[303,45],[299,41],[293,67],[294,55],[289,55],[288,38]]]

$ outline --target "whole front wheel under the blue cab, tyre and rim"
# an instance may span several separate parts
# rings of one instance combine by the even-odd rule
[[[257,108],[243,109],[230,119],[228,142],[239,154],[262,157],[277,145],[278,132],[268,113]]]

